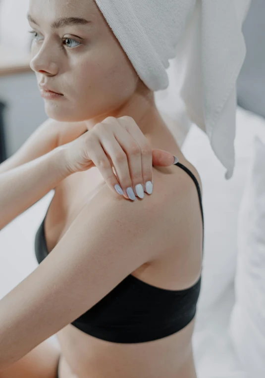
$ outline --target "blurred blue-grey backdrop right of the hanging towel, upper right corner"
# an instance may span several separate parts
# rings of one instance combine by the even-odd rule
[[[237,79],[238,105],[265,118],[265,0],[252,0],[242,32],[247,53]]]

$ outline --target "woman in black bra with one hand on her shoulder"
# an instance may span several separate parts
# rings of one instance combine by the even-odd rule
[[[68,17],[67,23],[59,17]],[[199,174],[94,1],[32,0],[28,19],[34,34],[31,67],[40,87],[57,93],[42,90],[46,113],[61,125],[78,122],[84,135],[71,141],[71,133],[59,129],[49,162],[42,156],[24,166],[33,167],[24,171],[30,180],[36,172],[39,180],[20,212],[55,192],[36,235],[40,265],[0,301],[0,377],[196,378],[191,339],[203,251]],[[116,142],[122,145],[125,138],[121,125],[135,140],[141,131],[152,149],[179,160],[169,166],[167,154],[162,167],[153,168],[156,187],[143,199],[136,189],[126,191],[126,164],[116,172],[124,200],[113,189],[115,177],[108,179],[106,160],[98,167],[91,158],[91,168],[85,156],[90,151],[99,156],[100,141],[110,162]],[[145,184],[144,172],[137,180],[136,171],[133,188]],[[145,178],[150,181],[150,174]],[[28,193],[24,181],[16,183]],[[17,207],[14,202],[11,219]],[[41,349],[54,333],[60,356],[46,344]],[[41,357],[46,364],[39,364]]]

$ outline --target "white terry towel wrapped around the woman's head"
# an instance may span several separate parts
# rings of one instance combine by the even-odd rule
[[[96,0],[142,81],[166,90],[169,59],[191,122],[209,137],[232,177],[236,79],[246,47],[242,23],[251,0]],[[169,94],[170,96],[171,94]],[[177,120],[177,118],[176,118]]]

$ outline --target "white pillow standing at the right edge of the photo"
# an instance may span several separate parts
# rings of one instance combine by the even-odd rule
[[[262,142],[262,139],[264,142]],[[229,333],[244,370],[265,377],[265,127],[255,136],[254,158],[238,215],[235,304]]]

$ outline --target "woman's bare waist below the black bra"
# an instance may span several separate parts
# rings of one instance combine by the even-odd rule
[[[68,365],[66,370],[70,370],[73,377],[182,378],[183,375],[178,376],[178,371],[187,369],[184,363],[189,370],[194,369],[191,346],[194,321],[169,336],[132,344],[108,342],[80,331],[71,324],[56,335],[63,363]],[[184,376],[196,377],[188,373]]]

